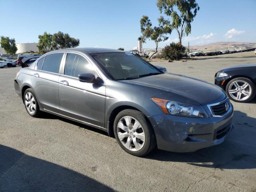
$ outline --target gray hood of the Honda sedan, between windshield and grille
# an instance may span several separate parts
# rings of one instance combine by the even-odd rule
[[[225,92],[214,84],[177,74],[166,73],[125,81],[180,94],[201,105],[220,102],[226,98]]]

